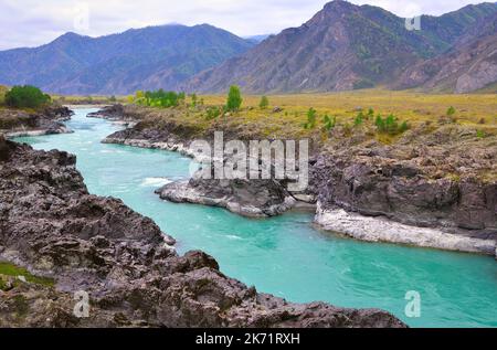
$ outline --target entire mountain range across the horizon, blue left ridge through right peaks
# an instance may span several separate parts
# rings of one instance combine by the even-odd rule
[[[299,28],[241,39],[202,24],[67,33],[0,52],[0,84],[61,94],[137,89],[221,93],[334,92],[368,87],[468,93],[497,85],[497,3],[423,15],[421,30],[381,8],[335,0]]]

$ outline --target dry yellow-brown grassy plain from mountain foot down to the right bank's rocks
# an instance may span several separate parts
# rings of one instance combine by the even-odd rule
[[[370,108],[374,110],[374,117],[390,114],[395,115],[400,123],[408,121],[410,127],[431,124],[433,131],[442,124],[453,123],[468,126],[483,132],[485,136],[497,135],[497,95],[433,95],[414,92],[390,91],[360,91],[332,94],[299,94],[299,95],[269,95],[269,107],[258,108],[262,96],[244,95],[240,112],[230,114],[229,117],[219,117],[208,120],[207,108],[223,106],[226,102],[224,95],[199,96],[204,107],[184,107],[171,109],[151,108],[152,119],[160,117],[162,120],[176,121],[182,125],[205,129],[214,124],[228,123],[230,128],[244,129],[247,135],[262,135],[269,138],[324,137],[320,134],[325,126],[325,115],[337,118],[337,126],[355,131],[355,119],[360,109],[364,114]],[[187,97],[187,103],[190,98]],[[453,106],[455,114],[447,116],[447,109]],[[274,113],[279,107],[282,112]],[[314,129],[303,127],[307,123],[307,112],[313,107],[317,110],[317,124]],[[369,130],[374,131],[374,120],[367,121]],[[430,129],[429,128],[429,129]],[[363,131],[363,130],[362,130]],[[390,135],[377,135],[377,139],[384,144],[394,142],[396,137]]]

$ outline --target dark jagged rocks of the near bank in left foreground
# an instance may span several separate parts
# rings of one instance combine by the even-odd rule
[[[0,153],[0,259],[56,279],[0,290],[0,326],[404,327],[380,310],[257,294],[202,252],[177,255],[123,202],[88,194],[74,156],[2,139]],[[76,290],[89,293],[89,318],[73,316]]]

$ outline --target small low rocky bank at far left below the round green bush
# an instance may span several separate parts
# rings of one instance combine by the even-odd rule
[[[0,109],[0,134],[11,138],[71,132],[63,121],[72,115],[71,109],[60,106],[50,106],[36,113]]]

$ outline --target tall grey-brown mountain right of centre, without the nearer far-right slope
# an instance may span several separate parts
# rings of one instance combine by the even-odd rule
[[[237,84],[247,93],[300,93],[406,87],[409,84],[399,79],[405,79],[408,68],[425,63],[436,70],[431,60],[452,50],[465,33],[496,14],[497,3],[467,6],[441,17],[423,15],[422,30],[408,31],[404,19],[381,8],[336,0],[302,26],[268,38],[245,54],[193,76],[181,88],[219,93]],[[469,41],[480,36],[476,32]],[[473,46],[466,43],[466,47]],[[493,65],[491,59],[487,62]],[[469,92],[494,79],[491,74],[485,78],[482,74],[485,71],[476,74],[479,83],[467,82],[467,88],[462,89],[450,84],[451,89]],[[419,82],[430,86],[425,83]],[[409,85],[414,86],[419,85]]]

